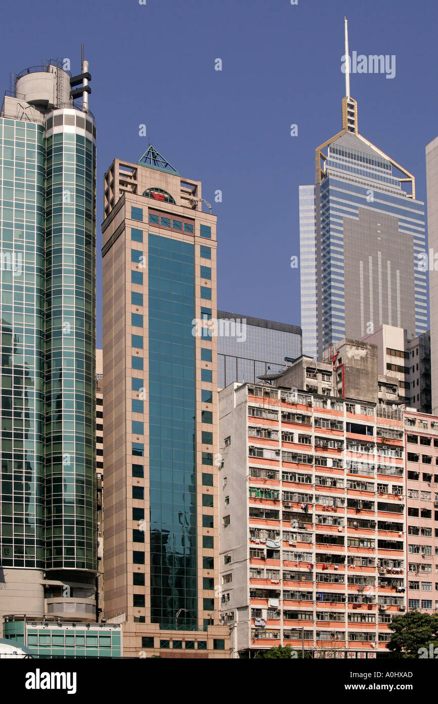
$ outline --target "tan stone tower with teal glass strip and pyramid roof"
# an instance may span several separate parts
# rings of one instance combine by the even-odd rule
[[[216,217],[152,146],[104,186],[105,618],[125,655],[223,658]]]

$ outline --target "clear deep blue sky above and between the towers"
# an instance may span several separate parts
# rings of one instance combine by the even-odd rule
[[[299,325],[298,186],[338,132],[350,54],[395,54],[396,76],[352,75],[359,131],[413,172],[425,200],[425,145],[438,134],[436,0],[23,0],[1,11],[1,84],[61,56],[89,60],[98,125],[98,344],[103,173],[139,160],[148,138],[202,180],[218,216],[219,308]],[[221,58],[222,71],[214,70]],[[1,87],[0,84],[0,87]],[[3,89],[2,88],[2,89]],[[298,136],[290,137],[290,125]]]

